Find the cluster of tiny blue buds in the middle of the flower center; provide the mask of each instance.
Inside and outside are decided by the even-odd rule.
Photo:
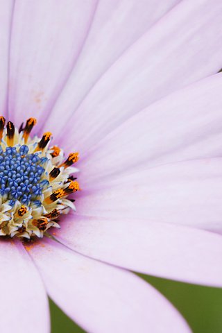
[[[8,198],[9,205],[19,200],[24,205],[41,205],[40,196],[49,185],[44,179],[44,165],[47,157],[39,157],[38,153],[28,154],[28,146],[19,148],[0,148],[0,194]]]

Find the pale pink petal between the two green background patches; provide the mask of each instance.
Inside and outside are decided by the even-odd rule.
[[[44,240],[30,249],[49,295],[87,332],[189,332],[176,309],[133,273]]]

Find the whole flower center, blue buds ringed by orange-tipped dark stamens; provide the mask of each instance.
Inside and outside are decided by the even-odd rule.
[[[78,153],[64,161],[58,146],[49,148],[51,133],[29,136],[36,120],[17,130],[11,121],[5,128],[0,117],[0,236],[43,237],[51,227],[60,228],[58,217],[75,210],[69,194],[79,190],[78,171],[72,165]]]

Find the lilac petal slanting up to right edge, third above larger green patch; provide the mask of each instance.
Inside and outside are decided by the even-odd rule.
[[[221,86],[216,74],[139,112],[80,161],[83,178],[95,184],[128,169],[221,156]]]

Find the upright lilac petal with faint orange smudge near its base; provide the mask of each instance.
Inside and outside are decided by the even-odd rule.
[[[74,66],[96,0],[16,1],[10,51],[10,119],[44,123]],[[58,119],[56,119],[58,121]]]

